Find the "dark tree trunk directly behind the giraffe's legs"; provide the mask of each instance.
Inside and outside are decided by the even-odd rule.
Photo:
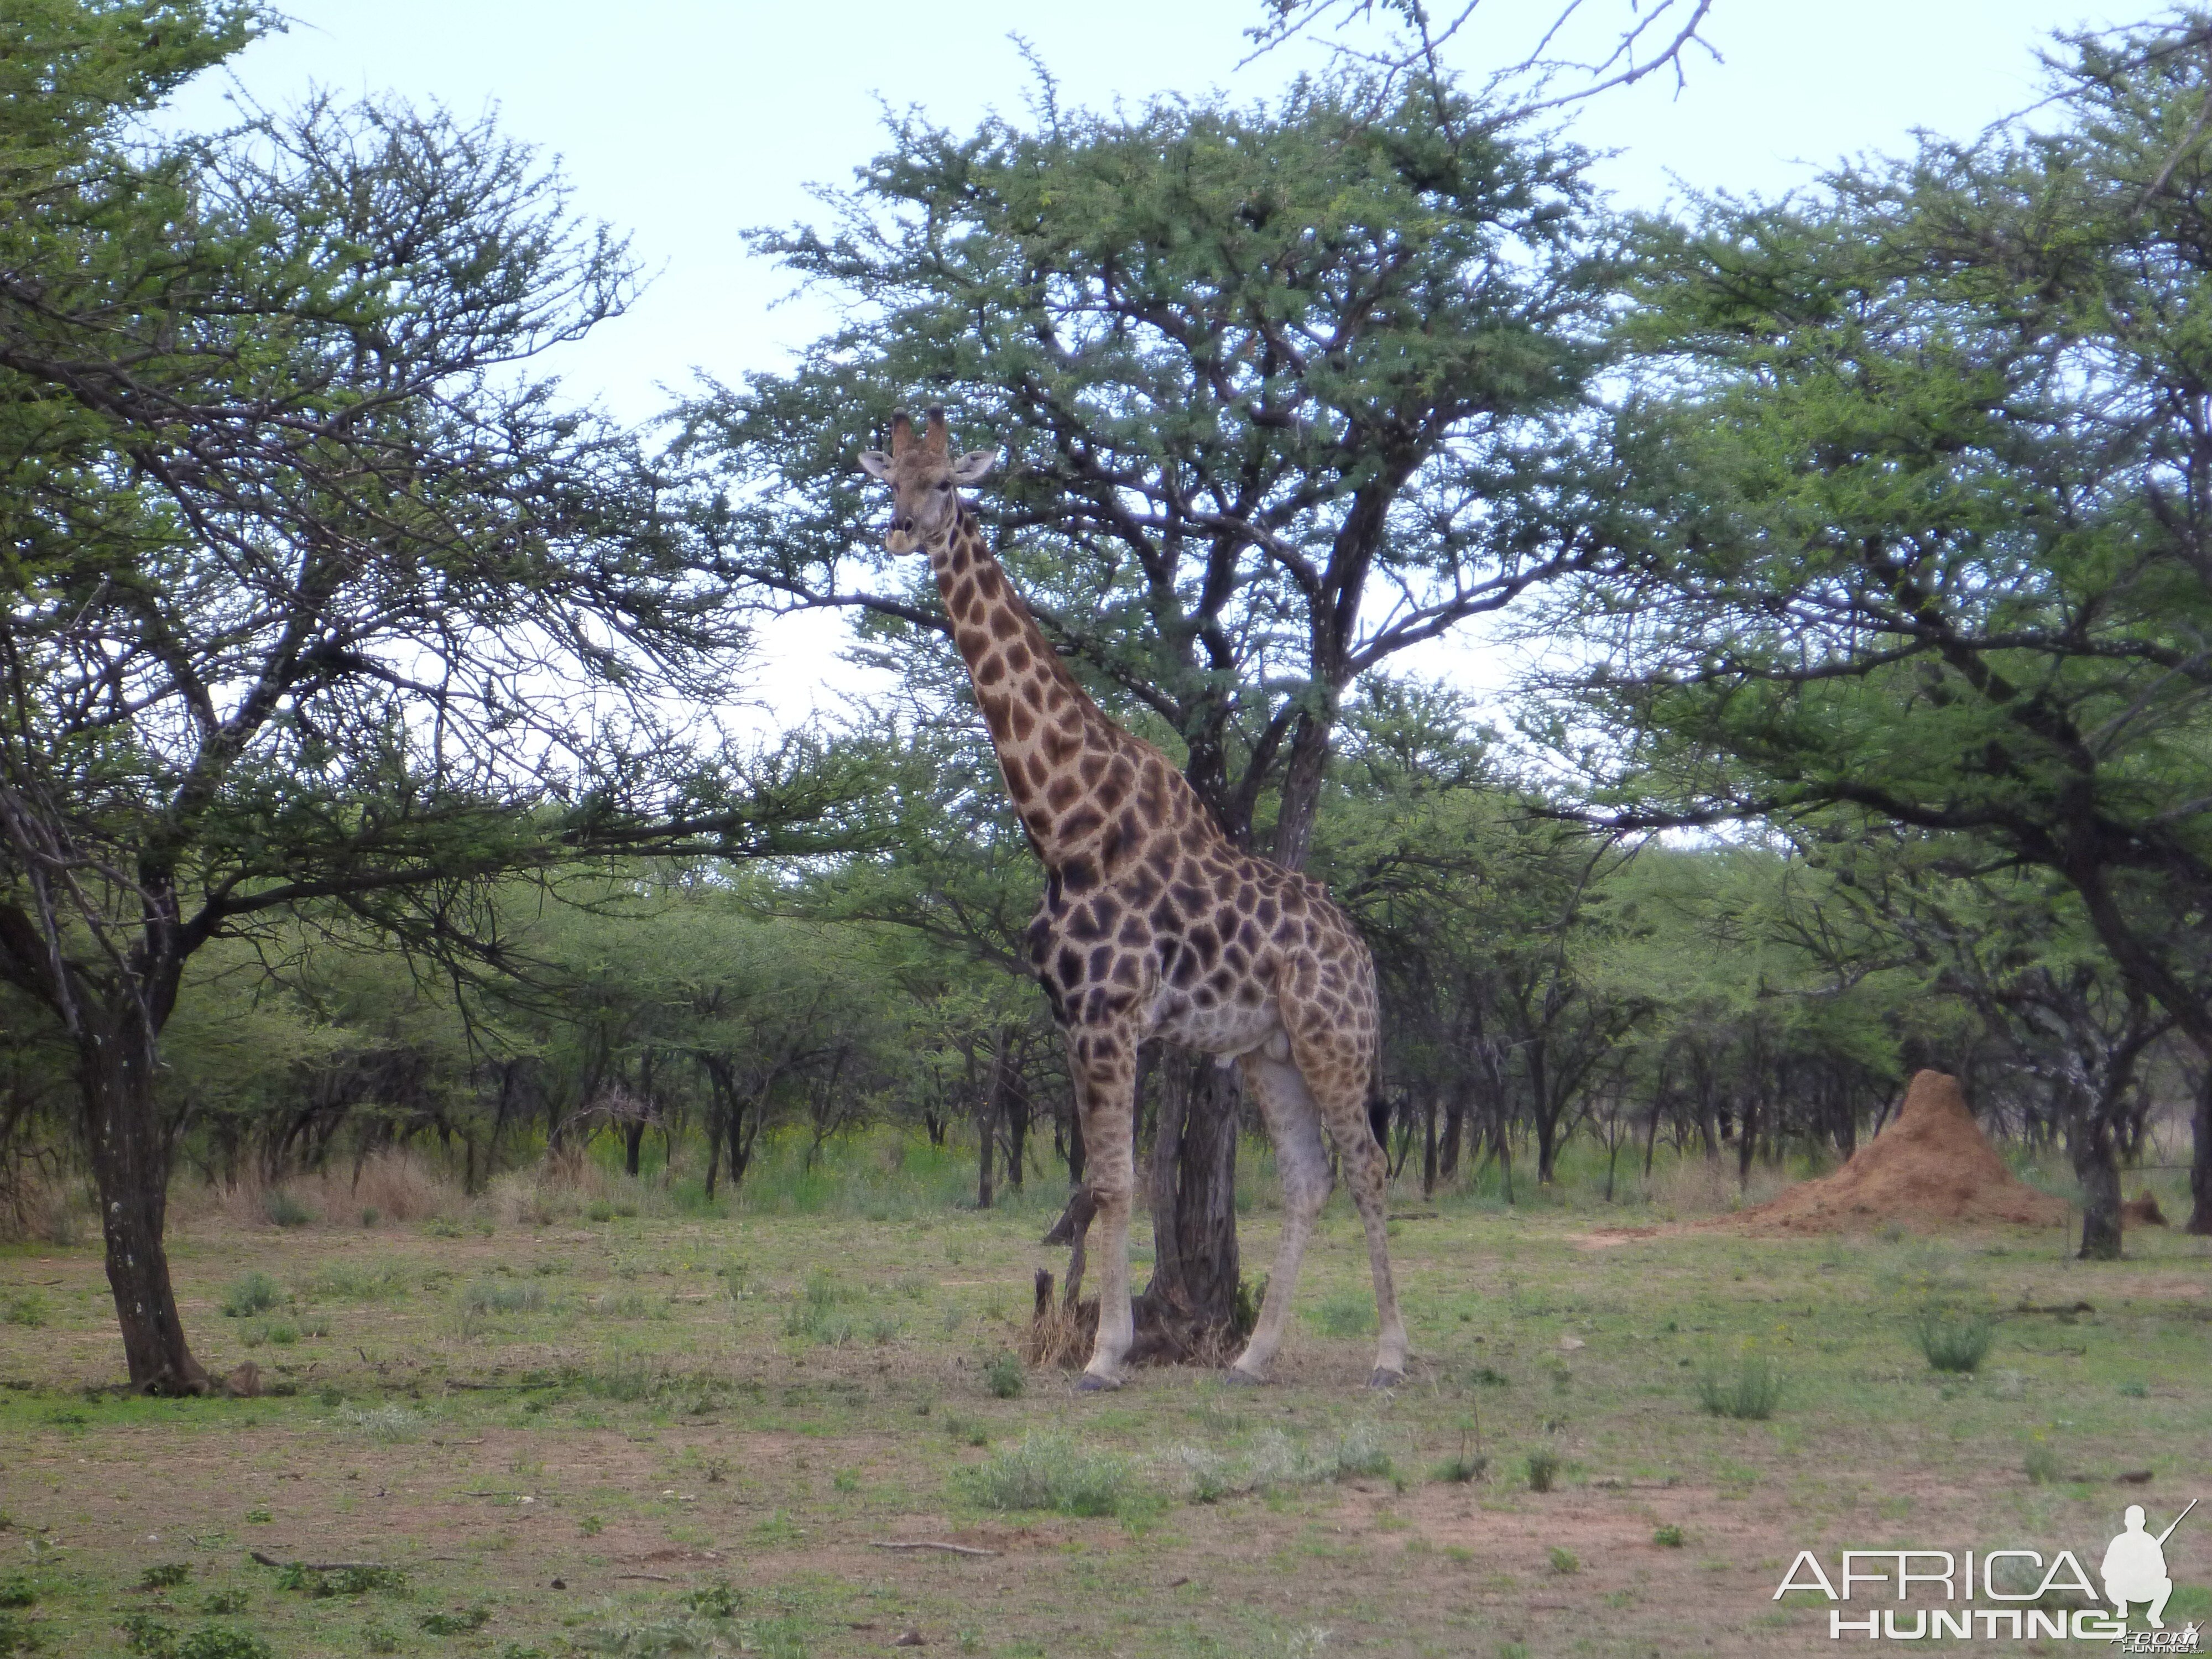
[[[1141,1358],[1223,1358],[1237,1314],[1239,1082],[1208,1055],[1168,1051],[1155,1066],[1152,1283],[1137,1298]]]

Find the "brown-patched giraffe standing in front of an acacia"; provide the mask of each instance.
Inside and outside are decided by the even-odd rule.
[[[1135,1336],[1128,1223],[1137,1044],[1164,1037],[1234,1064],[1283,1170],[1283,1237],[1232,1383],[1263,1383],[1298,1263],[1329,1197],[1323,1130],[1367,1230],[1380,1338],[1371,1387],[1405,1378],[1405,1323],[1385,1239],[1383,1148],[1367,1119],[1380,1018],[1374,958],[1321,883],[1237,849],[1175,763],[1075,684],[984,544],[960,487],[998,449],[953,458],[945,411],[860,469],[891,487],[891,553],[927,553],[991,730],[1006,794],[1044,863],[1029,958],[1068,1044],[1086,1186],[1102,1228],[1099,1327],[1077,1387],[1121,1385]]]

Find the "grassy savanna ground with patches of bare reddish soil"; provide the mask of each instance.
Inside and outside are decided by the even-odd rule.
[[[1064,1265],[1035,1243],[1057,1186],[960,1210],[964,1159],[885,1137],[814,1172],[781,1148],[721,1214],[608,1177],[372,1223],[343,1188],[314,1221],[279,1201],[296,1225],[181,1197],[197,1352],[272,1391],[102,1387],[97,1241],[0,1252],[0,1652],[1825,1652],[1825,1604],[1774,1601],[1798,1548],[2095,1571],[2126,1502],[2157,1531],[2212,1498],[2208,1241],[1593,1237],[1688,1214],[1701,1175],[1635,1206],[1586,1172],[1513,1208],[1400,1192],[1391,1396],[1360,1387],[1340,1194],[1276,1387],[1082,1398],[1009,1358]],[[1250,1148],[1243,1179],[1259,1272]],[[1929,1307],[1993,1318],[1980,1369],[1931,1369]],[[1767,1418],[1703,1405],[1767,1376]],[[989,1553],[878,1548],[918,1540]],[[2212,1517],[2168,1564],[2168,1624],[2203,1621]]]

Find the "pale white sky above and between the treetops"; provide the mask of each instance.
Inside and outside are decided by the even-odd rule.
[[[1484,0],[1453,64],[1480,73],[1526,55],[1559,4]],[[748,257],[739,232],[816,217],[807,186],[849,181],[880,148],[883,104],[958,131],[991,108],[1020,115],[1031,82],[1009,33],[1031,42],[1071,106],[1214,88],[1259,100],[1318,62],[1296,51],[1239,69],[1259,0],[290,0],[288,11],[290,31],[232,64],[254,100],[283,106],[323,86],[462,115],[495,108],[507,133],[562,159],[580,212],[630,234],[650,288],[557,365],[573,394],[626,420],[666,407],[695,372],[776,369],[823,332],[821,305],[779,303],[790,281]],[[1584,11],[1595,31],[1628,0]],[[1615,150],[1597,179],[1630,206],[1659,206],[1677,181],[1776,195],[1843,155],[1905,150],[1916,126],[1971,135],[2037,95],[2035,49],[2053,29],[2141,15],[2095,0],[1719,0],[1705,33],[1721,62],[1697,55],[1679,95],[1666,75],[1606,93],[1573,117],[1573,135]],[[177,115],[221,124],[221,77],[204,77]],[[757,690],[772,708],[796,717],[860,688],[836,661],[841,628],[794,619],[763,641]],[[1478,657],[1438,653],[1418,668],[1498,686],[1498,666]]]

